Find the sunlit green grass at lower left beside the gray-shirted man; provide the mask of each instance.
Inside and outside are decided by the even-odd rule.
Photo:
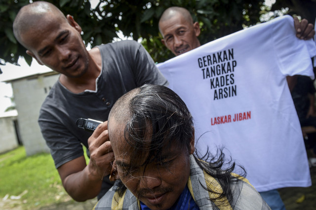
[[[75,203],[64,190],[50,154],[27,157],[23,146],[0,154],[0,200],[14,201],[13,196],[19,195],[17,202],[5,208],[33,210],[67,201]]]

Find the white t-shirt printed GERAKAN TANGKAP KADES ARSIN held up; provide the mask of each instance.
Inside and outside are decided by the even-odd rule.
[[[158,64],[194,117],[197,150],[225,146],[259,192],[310,186],[300,123],[287,75],[314,77],[313,40],[283,16]],[[203,135],[202,135],[203,134]],[[207,146],[206,146],[207,145]]]

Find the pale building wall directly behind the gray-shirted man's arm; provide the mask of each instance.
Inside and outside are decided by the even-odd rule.
[[[40,106],[58,77],[59,74],[40,75],[38,78],[26,78],[11,82],[16,109],[19,113],[18,123],[21,141],[25,146],[27,155],[49,152],[40,133],[38,118]]]

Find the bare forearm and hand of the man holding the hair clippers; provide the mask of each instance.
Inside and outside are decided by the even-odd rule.
[[[107,121],[100,124],[88,140],[90,161],[84,156],[69,161],[58,168],[58,173],[68,194],[76,201],[96,197],[104,176],[109,175],[114,160],[108,135]]]

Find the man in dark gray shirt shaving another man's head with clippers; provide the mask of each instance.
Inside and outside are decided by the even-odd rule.
[[[78,23],[48,2],[22,7],[13,32],[27,54],[61,73],[40,109],[39,124],[66,191],[77,201],[100,198],[111,186],[105,180],[114,158],[107,122],[90,136],[77,119],[106,121],[121,95],[145,83],[166,85],[166,79],[136,41],[87,51]],[[88,165],[81,144],[89,150]]]

